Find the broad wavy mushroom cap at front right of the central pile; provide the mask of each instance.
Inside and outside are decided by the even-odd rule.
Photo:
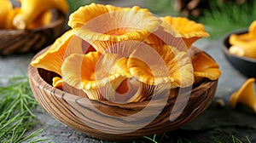
[[[193,67],[189,56],[167,45],[151,45],[136,49],[127,66],[137,80],[157,85],[171,83],[172,88],[188,87],[194,83]]]

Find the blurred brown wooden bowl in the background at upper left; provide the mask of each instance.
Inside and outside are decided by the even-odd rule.
[[[0,54],[38,52],[61,36],[65,21],[66,15],[53,10],[53,20],[47,26],[32,30],[0,30]]]

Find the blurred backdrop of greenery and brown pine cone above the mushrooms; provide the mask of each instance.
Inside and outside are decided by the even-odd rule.
[[[67,0],[70,13],[90,3],[131,7],[138,5],[159,16],[183,16],[201,22],[212,38],[223,37],[236,29],[245,29],[256,20],[253,0]]]

